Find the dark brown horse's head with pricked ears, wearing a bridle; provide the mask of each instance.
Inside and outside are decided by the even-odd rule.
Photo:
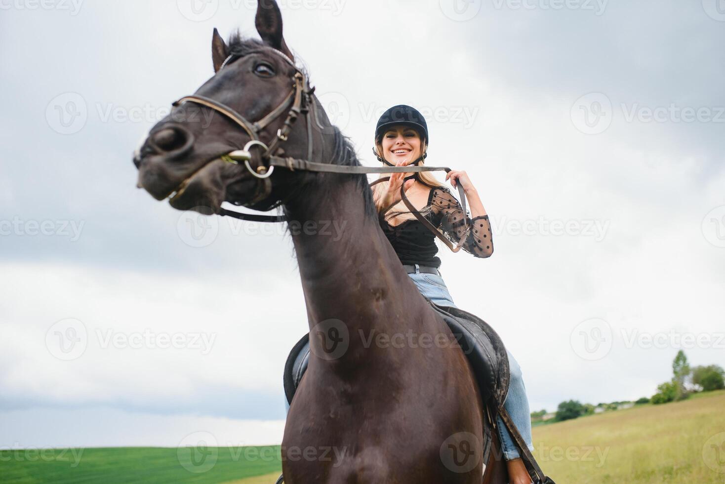
[[[215,75],[177,101],[136,151],[138,186],[155,199],[207,214],[220,213],[223,201],[269,210],[289,196],[293,180],[279,170],[271,183],[265,160],[312,157],[323,135],[312,125],[329,121],[284,41],[276,1],[258,1],[255,25],[261,41],[237,34],[225,43],[214,29]],[[294,184],[302,184],[299,176]]]

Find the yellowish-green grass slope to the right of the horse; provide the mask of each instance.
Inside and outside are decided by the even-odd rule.
[[[725,483],[725,391],[534,428],[557,483]],[[709,466],[708,466],[709,464]]]

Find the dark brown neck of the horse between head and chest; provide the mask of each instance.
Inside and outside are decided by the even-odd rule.
[[[310,330],[326,320],[341,320],[354,346],[373,331],[396,330],[392,326],[402,325],[402,314],[410,316],[406,320],[425,319],[410,314],[423,312],[425,303],[378,220],[365,212],[354,180],[329,175],[328,183],[306,190],[305,199],[288,204],[286,212]]]

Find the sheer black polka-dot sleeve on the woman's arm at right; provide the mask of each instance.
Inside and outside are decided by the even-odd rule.
[[[458,200],[444,187],[434,188],[431,193],[431,210],[440,220],[439,228],[453,243],[459,243],[465,237],[463,250],[476,257],[490,257],[494,251],[492,241],[491,222],[489,216],[484,215],[471,220],[463,212]],[[465,225],[468,222],[468,234]]]

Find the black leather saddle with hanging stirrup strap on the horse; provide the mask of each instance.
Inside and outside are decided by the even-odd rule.
[[[488,323],[475,314],[456,307],[437,306],[428,299],[426,301],[444,319],[463,353],[468,358],[468,362],[471,363],[473,375],[481,392],[481,399],[491,412],[489,413],[489,420],[495,422],[497,415],[501,417],[501,420],[513,436],[513,440],[534,483],[555,484],[550,477],[544,475],[504,408],[504,402],[508,395],[510,372],[506,347],[500,336]],[[304,335],[290,351],[284,366],[284,393],[287,403],[290,405],[310,362],[309,343],[310,335]],[[486,429],[486,433],[489,432],[490,430]],[[490,435],[487,436],[490,437]],[[486,441],[489,443],[484,448],[484,462],[488,462],[489,453],[492,450],[490,446],[491,439],[487,438]]]

